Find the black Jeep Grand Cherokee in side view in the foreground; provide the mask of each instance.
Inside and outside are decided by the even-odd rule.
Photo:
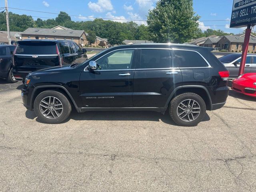
[[[78,112],[152,110],[195,126],[224,106],[229,73],[210,52],[184,44],[133,44],[104,50],[82,64],[28,74],[22,99],[45,123]]]

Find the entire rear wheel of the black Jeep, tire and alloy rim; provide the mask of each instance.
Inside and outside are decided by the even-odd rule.
[[[184,93],[172,99],[169,113],[180,126],[196,126],[206,115],[206,104],[199,95]]]

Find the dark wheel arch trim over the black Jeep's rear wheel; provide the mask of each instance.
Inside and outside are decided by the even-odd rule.
[[[177,95],[183,94],[183,93],[187,93],[187,92],[198,94],[204,100],[204,102],[206,104],[206,109],[212,110],[212,98],[210,96],[210,93],[205,86],[201,86],[201,85],[188,85],[188,86],[176,87],[170,94],[170,96],[166,102],[165,108],[168,107],[170,101],[174,97],[176,97]]]

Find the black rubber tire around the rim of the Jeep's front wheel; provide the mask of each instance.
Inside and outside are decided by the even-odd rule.
[[[46,116],[44,116],[42,114],[42,112],[41,112],[42,106],[40,106],[40,102],[44,98],[47,98],[47,97],[55,97],[56,100],[58,99],[60,101],[60,103],[62,104],[62,108],[63,108],[60,116],[56,115],[56,113],[53,112],[53,109],[52,109],[52,112],[55,114],[56,118],[51,119],[51,118],[49,118],[49,116],[47,118]],[[50,110],[51,109],[49,109],[48,112]],[[66,120],[68,118],[68,116],[71,113],[71,110],[72,110],[72,108],[71,108],[68,98],[64,94],[62,94],[58,91],[48,90],[48,91],[41,92],[40,94],[38,94],[38,96],[36,97],[36,99],[34,101],[34,111],[36,112],[36,115],[38,116],[39,120],[44,123],[48,123],[48,124],[58,124],[58,123],[63,122],[64,120]]]

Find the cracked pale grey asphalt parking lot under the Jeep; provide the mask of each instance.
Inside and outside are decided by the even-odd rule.
[[[0,191],[256,191],[256,98],[230,91],[196,127],[156,112],[38,122],[0,80]]]

